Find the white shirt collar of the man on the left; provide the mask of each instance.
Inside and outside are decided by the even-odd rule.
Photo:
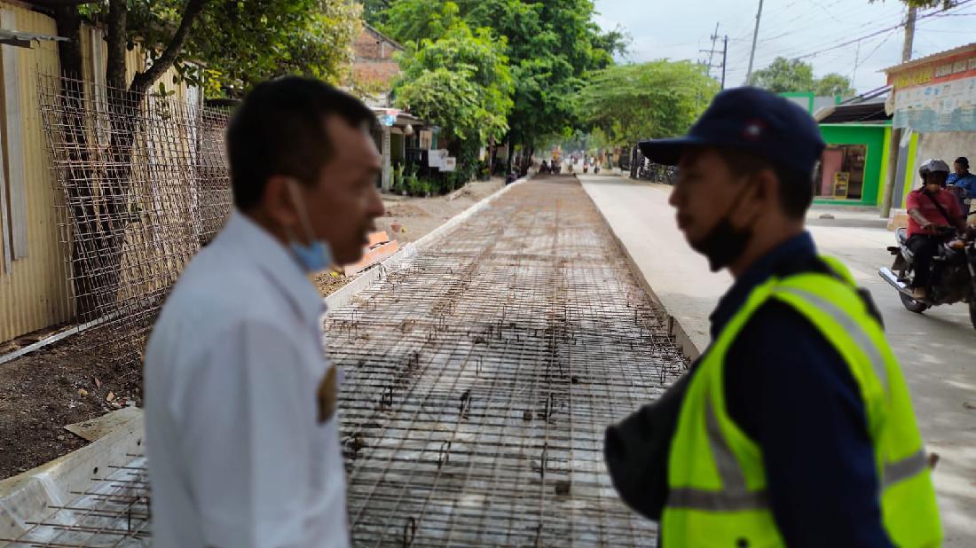
[[[251,217],[234,210],[221,238],[235,252],[257,265],[288,298],[306,321],[317,323],[325,313],[325,300],[295,257]],[[215,242],[216,243],[216,242]]]

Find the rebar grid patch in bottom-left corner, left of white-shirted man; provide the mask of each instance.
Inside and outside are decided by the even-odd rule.
[[[103,548],[148,546],[149,487],[145,458],[131,455],[127,466],[95,469],[91,485],[63,505],[45,505],[43,517],[26,522],[17,538],[0,538],[11,547]]]

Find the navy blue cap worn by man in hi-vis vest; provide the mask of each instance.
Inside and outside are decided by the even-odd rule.
[[[812,175],[826,145],[817,122],[799,105],[747,87],[715,96],[685,137],[644,140],[638,146],[652,162],[668,166],[677,165],[686,146],[722,146]]]

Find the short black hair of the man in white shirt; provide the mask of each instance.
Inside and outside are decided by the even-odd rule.
[[[362,101],[319,80],[286,76],[255,86],[227,128],[234,205],[257,205],[270,176],[314,183],[332,158],[325,121],[333,115],[353,126],[376,124]]]

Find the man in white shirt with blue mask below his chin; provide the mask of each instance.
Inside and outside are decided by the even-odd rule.
[[[308,274],[359,259],[382,169],[358,99],[257,86],[227,131],[235,211],[183,271],[145,356],[156,548],[345,547],[346,481]]]

